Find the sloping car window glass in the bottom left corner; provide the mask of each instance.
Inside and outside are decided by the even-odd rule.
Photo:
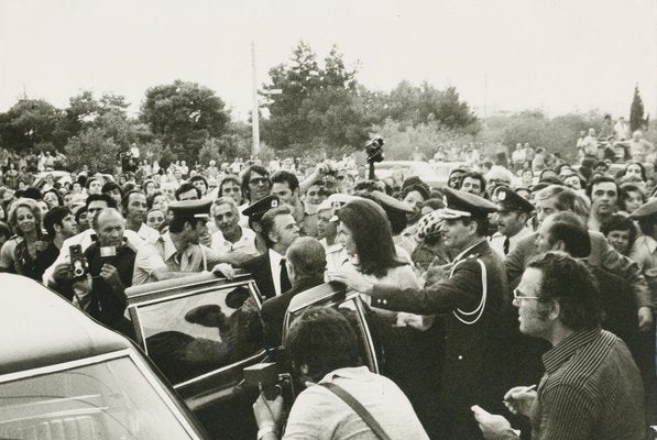
[[[0,383],[0,438],[190,439],[129,356]]]

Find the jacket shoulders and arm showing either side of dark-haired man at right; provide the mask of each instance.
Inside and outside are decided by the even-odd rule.
[[[506,276],[514,285],[523,275],[532,257],[536,255],[536,235],[533,233],[521,240],[516,248],[506,255]],[[632,285],[635,307],[650,307],[650,290],[638,263],[629,260],[609,245],[606,238],[598,231],[589,231],[591,238],[591,254],[587,257],[590,266],[602,267],[620,276]]]

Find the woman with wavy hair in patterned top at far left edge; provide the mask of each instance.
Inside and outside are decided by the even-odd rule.
[[[9,211],[9,227],[15,233],[0,250],[0,272],[11,272],[37,279],[34,272],[36,255],[45,250],[42,215],[36,201],[19,199]]]

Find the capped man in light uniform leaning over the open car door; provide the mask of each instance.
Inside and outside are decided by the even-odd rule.
[[[207,232],[211,200],[173,201],[168,232],[136,253],[132,285],[186,276],[190,273],[217,270],[231,276],[228,264],[239,265],[250,256],[237,253],[219,254],[199,243]],[[221,264],[228,263],[228,264]],[[220,265],[221,264],[221,265]],[[218,266],[219,265],[219,266]]]

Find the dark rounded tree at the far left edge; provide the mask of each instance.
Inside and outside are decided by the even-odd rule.
[[[21,99],[7,113],[0,114],[2,145],[14,151],[48,144],[62,147],[66,134],[57,127],[63,118],[61,110],[43,99]]]

